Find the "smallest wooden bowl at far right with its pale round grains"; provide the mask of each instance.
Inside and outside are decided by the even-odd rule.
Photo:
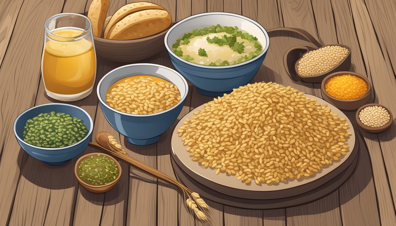
[[[356,122],[366,132],[381,133],[392,125],[392,112],[382,104],[366,104],[356,112]]]

